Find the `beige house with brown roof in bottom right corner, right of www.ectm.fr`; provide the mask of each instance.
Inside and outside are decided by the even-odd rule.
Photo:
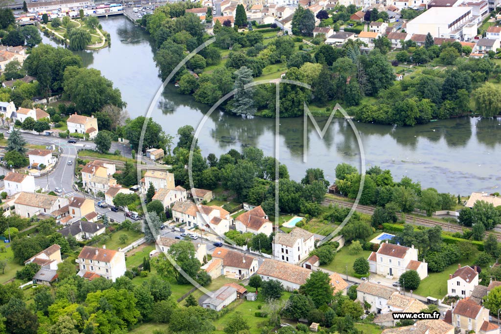
[[[469,299],[458,300],[452,311],[446,312],[444,320],[461,334],[471,331],[480,334],[499,333],[499,327],[489,322],[489,310]]]

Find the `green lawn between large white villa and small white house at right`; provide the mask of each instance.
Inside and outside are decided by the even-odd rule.
[[[473,265],[477,256],[477,252],[470,256],[469,260],[461,259],[459,261],[461,266],[463,265]],[[428,277],[421,281],[419,287],[414,290],[414,293],[419,294],[423,297],[432,296],[435,298],[442,298],[447,294],[447,280],[449,279],[449,274],[453,274],[457,270],[457,263],[453,263],[445,268],[442,272],[431,272],[428,270]]]

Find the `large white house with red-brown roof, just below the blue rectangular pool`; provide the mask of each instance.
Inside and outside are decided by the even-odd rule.
[[[405,247],[383,242],[377,252],[368,258],[370,272],[387,277],[398,278],[407,270],[416,270],[421,279],[428,276],[428,263],[417,260],[417,249],[414,245]]]

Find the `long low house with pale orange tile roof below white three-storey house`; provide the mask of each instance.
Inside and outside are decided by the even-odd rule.
[[[299,289],[311,273],[309,269],[273,259],[265,259],[257,271],[263,280],[278,280],[289,291]]]

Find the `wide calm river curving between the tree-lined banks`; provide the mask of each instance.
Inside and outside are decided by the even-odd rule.
[[[131,117],[145,115],[161,85],[153,62],[149,36],[124,16],[102,18],[103,29],[111,35],[111,47],[82,51],[85,66],[93,67],[122,92]],[[44,43],[54,42],[44,37]],[[176,93],[169,85],[150,117],[164,131],[175,135],[186,124],[195,129],[209,107]],[[326,118],[318,118],[322,129]],[[472,191],[499,191],[501,185],[501,120],[459,118],[431,122],[413,128],[355,122],[365,153],[366,168],[379,165],[390,169],[394,179],[408,176],[423,187],[440,192],[467,195]],[[289,168],[291,178],[300,180],[307,168],[322,168],[333,181],[334,168],[346,162],[360,169],[361,154],[349,123],[334,119],[323,139],[308,125],[306,163],[303,162],[303,118],[280,120],[279,159]],[[202,154],[219,156],[231,148],[246,145],[275,152],[275,120],[252,120],[214,111],[201,127],[198,143]],[[497,190],[496,190],[497,189]]]

